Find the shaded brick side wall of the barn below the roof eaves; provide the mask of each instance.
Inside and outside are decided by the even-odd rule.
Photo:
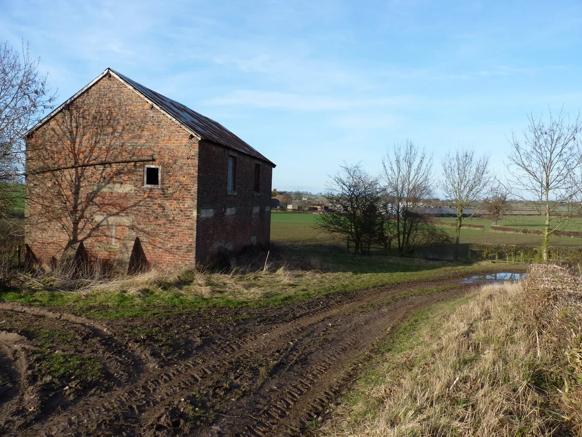
[[[221,252],[238,252],[256,244],[267,248],[271,231],[272,166],[236,150],[201,141],[198,151],[198,211],[196,250],[199,262],[210,262]],[[236,195],[227,191],[228,157],[236,161]],[[261,164],[260,191],[254,192],[255,163]],[[235,213],[226,214],[228,208]],[[253,208],[258,207],[258,212]],[[203,217],[202,209],[214,210]]]

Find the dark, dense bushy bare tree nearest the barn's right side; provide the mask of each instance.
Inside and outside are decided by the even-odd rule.
[[[336,211],[318,216],[316,226],[325,232],[342,235],[348,250],[353,244],[356,255],[369,251],[377,230],[378,203],[382,198],[378,178],[364,171],[360,164],[341,165],[325,197],[335,205]]]

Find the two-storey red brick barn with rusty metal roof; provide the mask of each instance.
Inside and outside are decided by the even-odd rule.
[[[269,245],[275,167],[214,120],[112,69],[26,135],[30,259],[136,269]]]

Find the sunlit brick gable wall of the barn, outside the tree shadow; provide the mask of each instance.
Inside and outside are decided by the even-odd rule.
[[[111,170],[111,177],[107,181],[110,184],[132,186],[132,192],[101,193],[97,202],[100,207],[88,209],[87,220],[94,221],[95,214],[113,214],[127,218],[131,224],[116,224],[114,236],[111,225],[92,225],[92,229],[86,229],[81,233],[80,238],[85,239],[88,231],[92,232],[93,235],[84,241],[88,253],[94,258],[127,259],[135,237],[139,237],[145,256],[151,265],[193,263],[196,253],[194,211],[196,211],[197,202],[198,140],[190,139],[187,131],[157,109],[150,108],[147,101],[115,77],[103,77],[77,98],[72,103],[72,108],[88,104],[100,105],[105,102],[108,102],[110,107],[123,105],[126,108],[125,111],[130,111],[134,117],[133,120],[136,121],[123,126],[124,133],[120,135],[120,147],[123,147],[124,151],[122,154],[127,157],[150,157],[153,154],[156,160],[154,163],[107,167]],[[122,111],[119,110],[119,112]],[[54,156],[58,157],[59,166],[72,163],[70,154],[64,152],[59,154],[61,149],[59,142],[62,142],[62,138],[54,132],[55,126],[58,125],[59,120],[63,121],[63,117],[65,117],[63,112],[59,113],[27,140],[28,171],[38,168],[39,158],[43,155],[35,150],[37,146],[42,145],[48,145],[55,151]],[[133,132],[136,129],[140,132]],[[103,156],[111,156],[107,153],[107,147],[113,147],[113,143],[104,142],[100,149]],[[97,154],[94,160],[102,159]],[[144,164],[161,165],[160,188],[144,188]],[[95,172],[98,168],[91,170]],[[67,227],[70,228],[70,221],[65,218],[63,202],[55,198],[51,211],[61,208],[62,220],[47,221],[45,219],[45,223],[41,223],[43,217],[47,217],[46,210],[51,202],[51,189],[43,189],[43,186],[50,185],[50,177],[48,174],[33,175],[28,179],[27,197],[31,200],[27,202],[29,220],[26,243],[37,258],[48,263],[53,256],[56,259],[61,258],[69,239]],[[94,189],[94,184],[94,179],[87,177],[81,193]],[[41,206],[35,202],[35,198],[42,198],[44,205]],[[107,202],[107,199],[111,201]]]

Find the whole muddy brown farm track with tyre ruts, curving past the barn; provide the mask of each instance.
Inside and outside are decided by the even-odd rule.
[[[0,435],[301,434],[378,340],[475,287],[459,280],[105,322],[0,304]]]

